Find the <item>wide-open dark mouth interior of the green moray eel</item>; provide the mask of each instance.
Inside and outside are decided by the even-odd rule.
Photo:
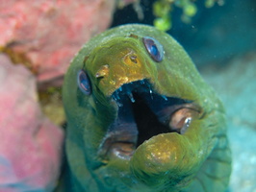
[[[147,80],[122,84],[112,99],[118,111],[100,147],[105,159],[129,159],[145,140],[161,133],[183,134],[200,112],[192,101],[157,93]]]

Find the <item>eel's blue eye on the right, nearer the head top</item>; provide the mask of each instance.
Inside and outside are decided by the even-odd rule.
[[[142,40],[150,57],[157,62],[162,61],[164,58],[164,49],[162,44],[150,36],[144,36]]]

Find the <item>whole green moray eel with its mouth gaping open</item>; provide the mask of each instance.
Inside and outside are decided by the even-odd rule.
[[[133,24],[91,38],[71,61],[63,99],[71,191],[226,190],[224,109],[166,33]]]

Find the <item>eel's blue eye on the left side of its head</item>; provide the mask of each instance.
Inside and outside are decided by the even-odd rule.
[[[77,73],[77,84],[84,94],[90,95],[90,79],[88,78],[87,73],[82,69]]]

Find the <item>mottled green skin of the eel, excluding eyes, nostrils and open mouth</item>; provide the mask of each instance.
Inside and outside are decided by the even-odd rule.
[[[154,37],[164,46],[163,61],[150,58],[142,36]],[[138,64],[124,61],[131,50]],[[110,65],[110,71],[104,78],[95,78],[104,64]],[[82,68],[90,77],[90,96],[76,83]],[[121,84],[145,78],[160,94],[192,100],[202,108],[200,117],[192,120],[185,134],[169,132],[145,141],[131,159],[102,159],[100,144],[117,111],[111,94]],[[224,109],[182,46],[166,33],[144,25],[125,25],[91,38],[71,62],[63,98],[72,191],[225,191],[231,157]]]

